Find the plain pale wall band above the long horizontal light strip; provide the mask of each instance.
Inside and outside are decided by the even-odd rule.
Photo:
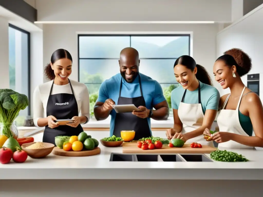
[[[210,20],[231,22],[230,0],[36,0],[38,21]]]

